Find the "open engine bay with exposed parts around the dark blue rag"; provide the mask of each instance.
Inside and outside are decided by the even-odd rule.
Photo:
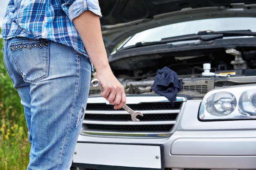
[[[236,48],[202,49],[193,46],[185,51],[184,48],[166,49],[166,44],[161,46],[146,46],[139,52],[137,48],[126,49],[110,56],[112,71],[124,84],[127,94],[154,93],[151,86],[155,75],[164,66],[182,79],[182,90],[177,95],[188,98],[202,98],[217,86],[256,82],[255,47],[237,45]],[[210,64],[207,71],[204,64]]]

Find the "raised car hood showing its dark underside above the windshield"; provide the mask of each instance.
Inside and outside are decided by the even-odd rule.
[[[254,17],[255,0],[99,0],[106,50],[135,33],[171,23],[221,17]]]

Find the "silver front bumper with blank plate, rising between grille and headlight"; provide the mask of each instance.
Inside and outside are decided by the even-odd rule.
[[[197,118],[200,100],[187,101],[168,138],[80,135],[73,166],[98,170],[256,170],[256,121]]]

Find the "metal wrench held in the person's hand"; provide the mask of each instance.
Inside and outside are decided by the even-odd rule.
[[[101,91],[104,91],[98,79],[92,79],[91,85],[93,87],[97,87]],[[136,118],[137,115],[143,116],[143,114],[140,111],[134,111],[131,108],[129,108],[126,104],[124,104],[123,109],[130,113],[132,121],[139,121],[139,119]]]

